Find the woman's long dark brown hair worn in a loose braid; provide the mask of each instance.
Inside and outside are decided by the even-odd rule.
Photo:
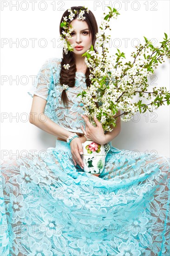
[[[94,14],[89,10],[89,13],[86,12],[86,9],[83,8],[83,6],[73,6],[71,7],[72,11],[75,9],[77,11],[79,11],[80,9],[82,10],[85,10],[85,13],[83,14],[83,16],[85,17],[85,21],[87,22],[88,24],[88,27],[89,27],[89,33],[91,34],[92,33],[92,45],[93,45],[93,48],[94,48],[94,44],[95,44],[95,41],[96,41],[96,34],[98,33],[98,24],[97,24],[97,21],[94,17]],[[63,16],[61,18],[61,22],[63,22],[63,18],[65,16],[69,16],[69,12],[68,12],[68,9],[65,11],[65,13],[63,13]],[[75,16],[73,17],[73,20],[75,20],[76,18],[78,17],[78,13],[75,14]],[[71,20],[72,21],[72,20]],[[67,21],[69,22],[69,24],[71,23],[71,21]],[[69,25],[68,25],[69,26]],[[60,35],[62,34],[62,32],[64,31],[64,28],[63,27],[60,27],[59,26],[59,33]],[[89,35],[90,35],[89,34]],[[94,51],[97,52],[97,50],[94,48]],[[65,68],[63,67],[63,65],[66,65],[66,64],[69,64],[70,67],[69,69],[67,70],[67,72],[65,72]],[[74,60],[74,55],[72,54],[72,52],[68,51],[68,54],[65,54],[64,52],[64,48],[63,48],[63,58],[62,58],[62,61],[61,61],[61,71],[60,71],[60,79],[59,79],[59,82],[61,85],[63,84],[67,84],[69,87],[74,87],[75,86],[75,74],[76,74],[76,64],[75,64],[75,60]],[[86,69],[86,72],[85,72],[85,77],[86,77],[86,85],[87,87],[90,87],[90,79],[89,79],[89,74],[90,74],[90,70],[89,70],[89,67],[87,67]],[[61,94],[61,100],[63,101],[65,107],[68,108],[68,98],[67,98],[67,94],[66,94],[66,91],[63,90],[62,94]]]

